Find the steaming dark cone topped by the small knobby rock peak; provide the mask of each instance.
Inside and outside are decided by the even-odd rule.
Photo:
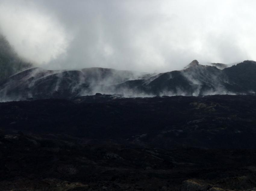
[[[147,86],[159,95],[198,96],[226,94],[223,92],[226,76],[214,66],[204,66],[192,61],[184,70],[164,73]]]

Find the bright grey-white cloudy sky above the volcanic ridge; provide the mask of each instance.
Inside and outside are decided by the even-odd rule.
[[[49,69],[256,60],[254,0],[0,0],[0,32]]]

